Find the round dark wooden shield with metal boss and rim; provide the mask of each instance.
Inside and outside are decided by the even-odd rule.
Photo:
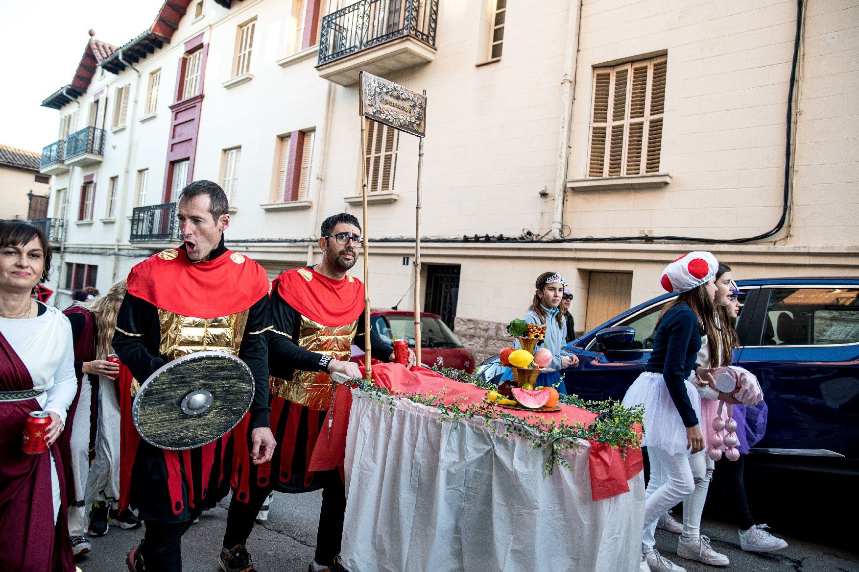
[[[253,401],[253,374],[222,352],[198,352],[158,368],[137,391],[137,432],[160,449],[182,450],[221,438]]]

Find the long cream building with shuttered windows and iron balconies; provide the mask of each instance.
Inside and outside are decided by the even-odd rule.
[[[740,278],[856,275],[859,4],[805,4],[172,0],[43,103],[58,304],[178,244],[198,179],[231,248],[272,277],[313,263],[323,218],[361,218],[363,169],[372,305],[411,309],[418,141],[369,123],[362,147],[361,70],[426,89],[421,304],[478,357],[546,270],[580,331],[691,249]]]

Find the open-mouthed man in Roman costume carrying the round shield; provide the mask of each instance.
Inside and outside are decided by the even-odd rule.
[[[194,181],[179,197],[183,244],[131,268],[119,308],[113,348],[138,382],[171,360],[201,351],[238,355],[253,373],[247,415],[254,463],[271,458],[268,351],[271,328],[265,270],[223,245],[227,196],[211,181]],[[216,384],[217,380],[211,380]],[[128,554],[132,572],[179,572],[181,538],[206,508],[229,490],[233,440],[166,451],[140,440],[131,469],[131,506],[146,526]]]

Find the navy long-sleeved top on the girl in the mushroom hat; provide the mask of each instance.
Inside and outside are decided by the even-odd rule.
[[[661,373],[668,386],[674,407],[685,427],[698,425],[698,416],[686,393],[686,379],[695,369],[698,350],[701,349],[701,332],[698,330],[698,315],[683,302],[674,305],[662,317],[653,335],[653,351],[647,372]]]

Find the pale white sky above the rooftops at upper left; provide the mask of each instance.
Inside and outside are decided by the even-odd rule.
[[[40,103],[71,83],[88,32],[122,46],[155,21],[163,0],[0,0],[0,144],[42,151],[59,112]]]

